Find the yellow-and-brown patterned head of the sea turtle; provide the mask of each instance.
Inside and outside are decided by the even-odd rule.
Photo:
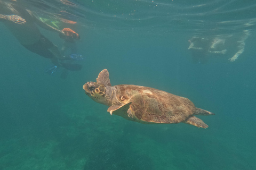
[[[107,88],[103,84],[89,81],[84,84],[83,89],[85,90],[85,94],[91,99],[97,103],[106,105],[105,96],[107,93]]]

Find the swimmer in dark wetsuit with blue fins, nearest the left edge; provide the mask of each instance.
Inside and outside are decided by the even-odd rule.
[[[52,67],[52,73],[57,69],[57,66],[62,66],[69,70],[81,70],[81,65],[59,63],[59,60],[65,60],[67,58],[60,54],[57,46],[41,34],[36,24],[46,30],[61,34],[64,34],[64,32],[37,19],[31,11],[26,10],[26,8],[22,7],[20,4],[16,4],[17,2],[13,3],[15,4],[0,0],[0,21],[3,21],[5,26],[12,32],[13,36],[17,38],[23,47],[45,58],[50,58],[55,65]]]

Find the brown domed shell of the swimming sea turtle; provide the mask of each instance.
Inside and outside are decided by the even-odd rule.
[[[162,90],[127,84],[114,87],[121,103],[131,103],[127,111],[129,117],[140,123],[180,123],[196,110],[188,98]]]

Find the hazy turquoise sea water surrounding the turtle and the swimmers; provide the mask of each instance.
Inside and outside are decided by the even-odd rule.
[[[116,1],[97,1],[94,6],[73,1],[79,4],[76,27],[82,37],[77,48],[85,60],[82,71],[69,72],[65,80],[60,78],[61,70],[46,74],[51,62],[23,48],[0,23],[0,169],[255,169],[256,34],[250,15],[254,3],[206,1],[207,10],[227,12],[214,18],[203,7],[197,8],[198,15],[190,8],[199,1],[174,1],[174,6],[169,1],[138,1],[138,16],[125,20],[112,14],[131,11],[135,1],[110,8],[106,2]],[[149,11],[147,4],[155,3],[165,8]],[[177,14],[170,22],[172,17],[164,14],[168,6],[172,16]],[[233,11],[239,7],[247,12],[240,10],[234,19]],[[69,12],[75,11],[70,7]],[[201,19],[205,27],[199,24]],[[193,64],[188,40],[209,28],[206,35],[213,35],[217,27],[212,25],[230,20],[216,32],[239,35],[247,21],[252,23],[244,53],[235,62],[228,61],[227,54]],[[41,32],[61,46],[56,33]],[[209,128],[145,125],[111,116],[108,106],[95,103],[82,89],[103,69],[108,69],[112,85],[153,87],[189,98],[196,107],[215,113],[198,116]]]

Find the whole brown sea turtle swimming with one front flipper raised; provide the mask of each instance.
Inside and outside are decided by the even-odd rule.
[[[111,86],[107,69],[99,73],[97,82],[86,82],[85,94],[97,103],[110,106],[112,115],[144,123],[187,123],[198,128],[208,128],[194,115],[214,115],[195,105],[185,97],[176,96],[154,88],[135,85]]]

